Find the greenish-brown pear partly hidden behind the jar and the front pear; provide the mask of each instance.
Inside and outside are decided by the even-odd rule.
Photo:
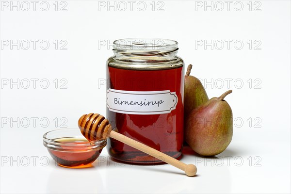
[[[184,118],[195,108],[209,100],[200,80],[190,76],[192,65],[188,65],[184,82]]]

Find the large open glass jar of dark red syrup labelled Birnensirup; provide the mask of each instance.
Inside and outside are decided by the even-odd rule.
[[[114,130],[180,159],[183,145],[184,62],[178,42],[132,38],[113,42],[107,60],[107,119]],[[108,152],[120,162],[162,162],[110,138]]]

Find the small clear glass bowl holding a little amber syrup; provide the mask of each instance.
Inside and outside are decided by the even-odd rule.
[[[106,140],[89,142],[80,129],[57,129],[43,135],[44,146],[60,166],[68,168],[89,167],[106,146]]]

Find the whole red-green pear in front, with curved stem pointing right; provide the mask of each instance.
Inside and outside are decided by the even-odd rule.
[[[212,97],[205,104],[194,109],[185,124],[185,140],[202,156],[215,156],[223,152],[232,139],[232,111],[224,98]]]

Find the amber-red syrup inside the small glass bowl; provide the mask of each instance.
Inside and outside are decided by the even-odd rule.
[[[54,139],[54,141],[58,142],[66,142],[66,143],[87,143],[88,140],[85,138],[59,138]],[[57,162],[60,166],[63,167],[70,167],[70,168],[83,168],[89,167],[89,165],[94,162],[98,156],[100,155],[101,149],[94,149],[94,150],[86,150],[84,146],[74,146],[72,147],[64,147],[65,149],[70,149],[69,151],[59,151],[49,149],[49,154],[53,158],[55,162]],[[78,149],[78,151],[73,151],[74,149]],[[83,149],[83,150],[82,150]]]

